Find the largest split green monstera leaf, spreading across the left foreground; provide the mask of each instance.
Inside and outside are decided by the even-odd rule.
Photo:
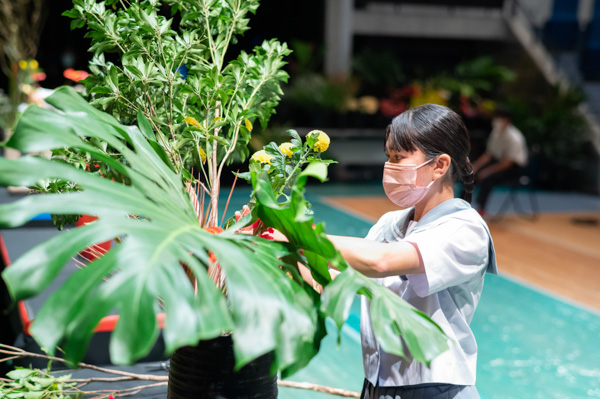
[[[40,345],[52,353],[60,344],[66,357],[76,362],[98,321],[116,309],[120,318],[111,336],[111,357],[116,363],[131,363],[154,344],[156,313],[164,311],[169,352],[232,332],[238,367],[271,351],[274,370],[307,364],[316,352],[311,348],[321,322],[313,297],[278,266],[290,254],[289,246],[205,232],[181,177],[149,144],[151,139],[137,127],[119,125],[97,112],[72,90],[62,89],[56,96],[50,101],[58,111],[30,107],[8,144],[24,151],[70,146],[99,158],[103,154],[98,148],[87,144],[88,137],[96,137],[121,153],[123,163],[105,160],[119,167],[130,185],[42,158],[0,159],[2,185],[58,178],[81,189],[0,205],[1,226],[22,225],[41,212],[99,217],[16,260],[2,275],[14,300],[40,293],[81,249],[121,238],[119,245],[72,274],[47,300],[32,326]],[[207,274],[208,250],[225,270],[227,297]],[[196,276],[197,294],[181,263]]]

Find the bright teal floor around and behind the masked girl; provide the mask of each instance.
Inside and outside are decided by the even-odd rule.
[[[246,201],[237,189],[230,211]],[[360,196],[381,193],[378,185],[309,187],[316,219],[332,234],[364,236],[370,222],[319,201],[321,195]],[[500,192],[494,201],[500,202]],[[597,197],[539,193],[543,211],[600,210]],[[568,207],[568,209],[563,209]],[[573,209],[576,207],[577,209]],[[600,265],[599,265],[600,266]],[[500,272],[502,265],[499,265]],[[342,330],[341,345],[332,326],[322,350],[304,370],[290,378],[360,391],[363,381],[358,331],[359,306]],[[600,398],[600,315],[565,303],[510,278],[487,276],[472,322],[479,346],[477,389],[484,399]],[[331,398],[282,388],[282,399]]]

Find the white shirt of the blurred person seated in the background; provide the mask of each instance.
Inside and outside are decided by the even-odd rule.
[[[513,125],[508,125],[504,131],[494,128],[488,139],[486,151],[498,161],[508,159],[522,167],[527,165],[525,137]]]

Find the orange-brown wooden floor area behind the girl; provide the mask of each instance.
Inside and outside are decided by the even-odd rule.
[[[386,197],[325,199],[375,221],[397,207]],[[488,221],[501,274],[600,310],[600,213],[542,214]]]

